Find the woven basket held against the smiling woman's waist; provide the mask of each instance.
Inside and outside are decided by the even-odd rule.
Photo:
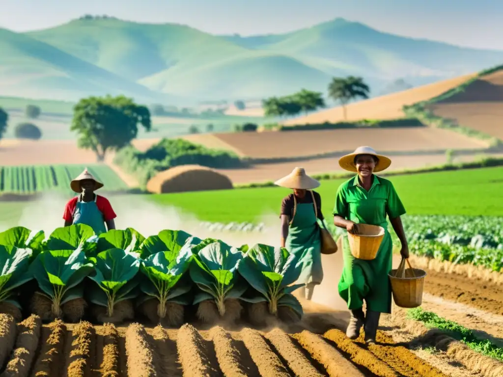
[[[369,224],[358,224],[358,234],[351,234],[348,232],[351,254],[358,259],[375,259],[383,237],[383,227]]]

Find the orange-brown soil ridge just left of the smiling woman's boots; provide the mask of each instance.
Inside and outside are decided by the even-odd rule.
[[[372,373],[381,377],[399,377],[400,374],[393,370],[388,364],[379,360],[372,352],[363,349],[358,344],[349,339],[345,333],[338,329],[332,329],[325,332],[325,338],[337,344],[337,347],[348,353],[351,361],[355,364],[364,366]]]

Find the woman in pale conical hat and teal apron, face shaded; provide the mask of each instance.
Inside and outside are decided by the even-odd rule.
[[[302,264],[298,284],[302,296],[311,300],[314,286],[323,279],[321,268],[321,237],[317,220],[323,224],[321,214],[321,197],[312,191],[320,185],[308,176],[301,167],[296,167],[287,176],[275,184],[293,189],[281,203],[281,246],[296,256],[297,263]]]

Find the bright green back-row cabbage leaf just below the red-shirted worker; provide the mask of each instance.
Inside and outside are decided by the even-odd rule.
[[[96,251],[98,236],[86,224],[56,228],[45,243],[45,250],[82,250],[87,256]]]

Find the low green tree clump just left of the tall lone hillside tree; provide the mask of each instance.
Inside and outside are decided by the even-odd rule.
[[[262,101],[266,116],[297,115],[300,112],[308,113],[325,107],[325,102],[320,92],[302,89],[297,93],[284,97],[271,97]]]

